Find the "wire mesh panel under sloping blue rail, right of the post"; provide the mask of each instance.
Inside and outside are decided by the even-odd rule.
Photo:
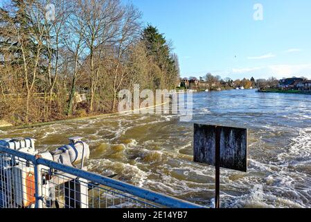
[[[44,207],[55,208],[157,208],[160,205],[148,203],[122,191],[76,178],[69,173],[42,170],[44,183],[48,185],[49,198]],[[43,194],[43,191],[42,191]]]

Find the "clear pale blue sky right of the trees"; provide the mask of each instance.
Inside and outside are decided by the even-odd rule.
[[[125,3],[129,0],[123,0]],[[311,78],[310,0],[131,0],[172,40],[181,76]],[[254,19],[254,5],[263,20]]]

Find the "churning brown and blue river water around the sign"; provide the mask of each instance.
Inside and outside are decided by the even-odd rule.
[[[71,136],[91,145],[91,171],[213,205],[214,169],[193,163],[193,123],[249,128],[249,172],[221,170],[222,207],[311,207],[311,96],[232,90],[194,94],[193,122],[127,114],[1,132],[40,151]]]

